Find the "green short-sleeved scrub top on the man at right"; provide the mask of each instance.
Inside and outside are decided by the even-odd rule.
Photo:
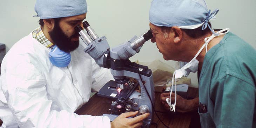
[[[204,57],[199,77],[202,128],[256,128],[256,50],[233,33]]]

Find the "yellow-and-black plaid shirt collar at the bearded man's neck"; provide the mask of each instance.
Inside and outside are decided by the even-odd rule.
[[[38,42],[40,42],[42,45],[44,45],[45,47],[49,48],[49,49],[53,49],[54,44],[52,42],[50,42],[45,35],[43,34],[43,31],[41,29],[41,27],[36,28],[33,32],[32,32],[32,37],[34,39],[36,39]]]

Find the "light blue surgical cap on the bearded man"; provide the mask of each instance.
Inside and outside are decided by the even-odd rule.
[[[40,19],[81,15],[87,12],[86,0],[36,0],[35,12]]]

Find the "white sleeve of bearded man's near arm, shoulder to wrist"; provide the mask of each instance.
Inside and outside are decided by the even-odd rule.
[[[110,128],[108,117],[51,110],[43,69],[32,61],[15,56],[6,62],[6,74],[1,77],[8,106],[21,128]]]

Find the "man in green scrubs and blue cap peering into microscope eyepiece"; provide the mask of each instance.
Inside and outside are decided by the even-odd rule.
[[[198,71],[199,98],[163,93],[161,101],[171,111],[197,110],[203,128],[255,128],[256,50],[228,28],[213,30],[217,13],[204,0],[152,1],[151,41],[165,60],[188,62],[174,78]]]

